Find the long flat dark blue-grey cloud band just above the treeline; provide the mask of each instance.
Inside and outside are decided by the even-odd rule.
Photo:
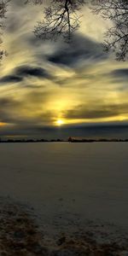
[[[68,137],[86,137],[86,138],[127,138],[128,124],[108,124],[108,125],[79,125],[66,126],[57,129],[42,125],[7,125],[0,128],[0,136],[3,137],[22,137],[22,138],[45,138],[67,139]]]

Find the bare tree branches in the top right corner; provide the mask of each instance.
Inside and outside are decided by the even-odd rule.
[[[128,57],[128,0],[95,0],[92,11],[104,19],[113,21],[105,33],[104,48],[112,49],[118,61]]]

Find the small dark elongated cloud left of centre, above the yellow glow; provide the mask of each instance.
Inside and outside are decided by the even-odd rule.
[[[24,78],[26,78],[26,76],[32,76],[41,79],[51,78],[50,74],[42,67],[21,66],[15,69],[15,73]]]

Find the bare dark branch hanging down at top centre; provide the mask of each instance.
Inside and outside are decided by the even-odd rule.
[[[66,41],[79,28],[78,10],[84,0],[53,0],[52,6],[44,9],[44,20],[38,22],[34,33],[38,38],[56,40],[62,36]]]

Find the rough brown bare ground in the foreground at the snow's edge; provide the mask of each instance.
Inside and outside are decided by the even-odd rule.
[[[96,234],[89,231],[45,239],[23,207],[9,203],[1,206],[0,256],[128,256],[126,241],[99,243]]]

